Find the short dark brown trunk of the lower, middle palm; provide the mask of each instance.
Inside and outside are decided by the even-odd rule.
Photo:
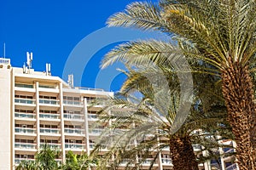
[[[174,170],[198,170],[198,163],[189,136],[175,135],[170,139],[170,152]]]

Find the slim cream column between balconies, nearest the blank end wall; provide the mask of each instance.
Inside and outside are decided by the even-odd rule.
[[[37,124],[36,124],[36,129],[37,129],[37,149],[40,148],[40,120],[39,120],[39,82],[35,83],[36,86],[36,117],[37,117]]]

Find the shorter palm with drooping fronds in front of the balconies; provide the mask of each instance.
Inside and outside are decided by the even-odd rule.
[[[108,106],[102,110],[102,123],[111,122],[111,126],[102,134],[102,139],[98,141],[96,147],[98,150],[102,145],[110,148],[108,154],[102,157],[105,164],[101,167],[108,167],[109,164],[107,163],[112,160],[113,155],[116,157],[111,162],[110,168],[112,169],[118,167],[119,163],[124,160],[128,162],[127,169],[131,168],[131,164],[140,167],[143,161],[150,156],[150,150],[155,150],[158,153],[153,159],[155,161],[160,151],[169,146],[174,169],[198,169],[198,162],[192,147],[192,140],[198,136],[197,133],[192,133],[199,128],[218,127],[217,122],[223,122],[225,111],[222,112],[222,119],[220,119],[216,113],[207,116],[206,113],[199,113],[197,109],[193,111],[193,114],[190,114],[183,127],[177,133],[172,134],[171,127],[177,115],[178,106],[177,88],[175,88],[177,84],[174,83],[176,82],[174,79],[168,78],[170,85],[172,85],[170,89],[173,89],[173,98],[170,104],[166,103],[166,98],[161,97],[165,96],[162,95],[162,90],[154,89],[158,92],[154,93],[152,84],[148,82],[147,77],[143,76],[145,72],[148,73],[151,69],[147,67],[146,70],[125,72],[128,78],[121,88],[121,92],[124,94],[116,99],[111,99]],[[170,75],[172,74],[166,74],[166,76]],[[158,74],[152,72],[150,76],[157,77]],[[143,99],[131,98],[129,94],[135,89],[143,94]],[[155,98],[159,99],[159,102],[154,102]],[[212,102],[212,105],[215,104]],[[164,105],[170,105],[167,115],[163,109]],[[110,115],[108,114],[109,111],[111,111]],[[207,112],[210,112],[210,109]],[[124,127],[128,127],[129,130],[125,130]],[[150,138],[148,134],[151,134]],[[113,138],[109,138],[109,136]],[[203,135],[201,134],[201,136]],[[210,136],[210,133],[207,133],[207,136]],[[140,156],[140,159],[135,159],[137,156]],[[152,161],[151,166],[153,166],[154,161]]]

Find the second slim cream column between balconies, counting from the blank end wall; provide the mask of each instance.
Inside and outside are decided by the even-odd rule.
[[[66,160],[65,150],[65,135],[64,135],[64,106],[63,106],[63,86],[62,82],[59,83],[59,97],[60,97],[60,114],[61,114],[61,150],[62,150],[62,161]]]

